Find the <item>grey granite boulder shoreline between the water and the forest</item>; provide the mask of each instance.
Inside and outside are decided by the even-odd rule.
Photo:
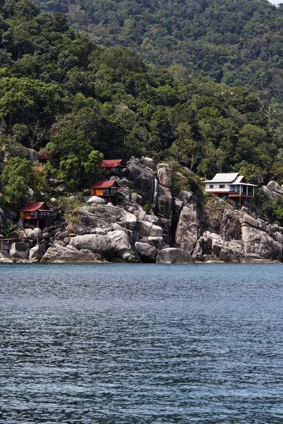
[[[184,175],[173,175],[168,164],[155,167],[151,158],[131,158],[127,168],[127,179],[119,179],[118,206],[86,197],[74,214],[79,224],[22,230],[21,241],[2,242],[0,263],[282,262],[283,228],[257,211],[237,211],[216,198],[203,210],[194,192],[173,187],[173,177],[185,182],[186,168]],[[273,183],[265,192],[283,196]],[[5,214],[8,209],[1,209],[2,220]]]

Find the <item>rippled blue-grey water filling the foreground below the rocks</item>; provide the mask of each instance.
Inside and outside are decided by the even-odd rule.
[[[283,423],[281,264],[1,264],[0,423]]]

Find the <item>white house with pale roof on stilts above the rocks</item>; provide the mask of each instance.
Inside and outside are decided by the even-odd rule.
[[[238,172],[230,174],[216,174],[212,179],[204,181],[205,191],[214,193],[219,197],[226,197],[229,201],[231,197],[236,197],[241,208],[241,198],[255,196],[255,184],[249,184],[243,175]]]

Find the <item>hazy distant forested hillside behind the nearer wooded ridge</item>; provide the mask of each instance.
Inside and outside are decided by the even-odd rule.
[[[283,100],[283,6],[267,0],[37,0],[98,45]]]

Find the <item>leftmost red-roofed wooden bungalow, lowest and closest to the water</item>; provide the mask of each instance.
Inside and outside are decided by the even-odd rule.
[[[20,219],[25,224],[33,225],[34,228],[45,228],[49,226],[50,213],[53,212],[44,201],[33,201],[25,204],[23,208],[18,210]]]

